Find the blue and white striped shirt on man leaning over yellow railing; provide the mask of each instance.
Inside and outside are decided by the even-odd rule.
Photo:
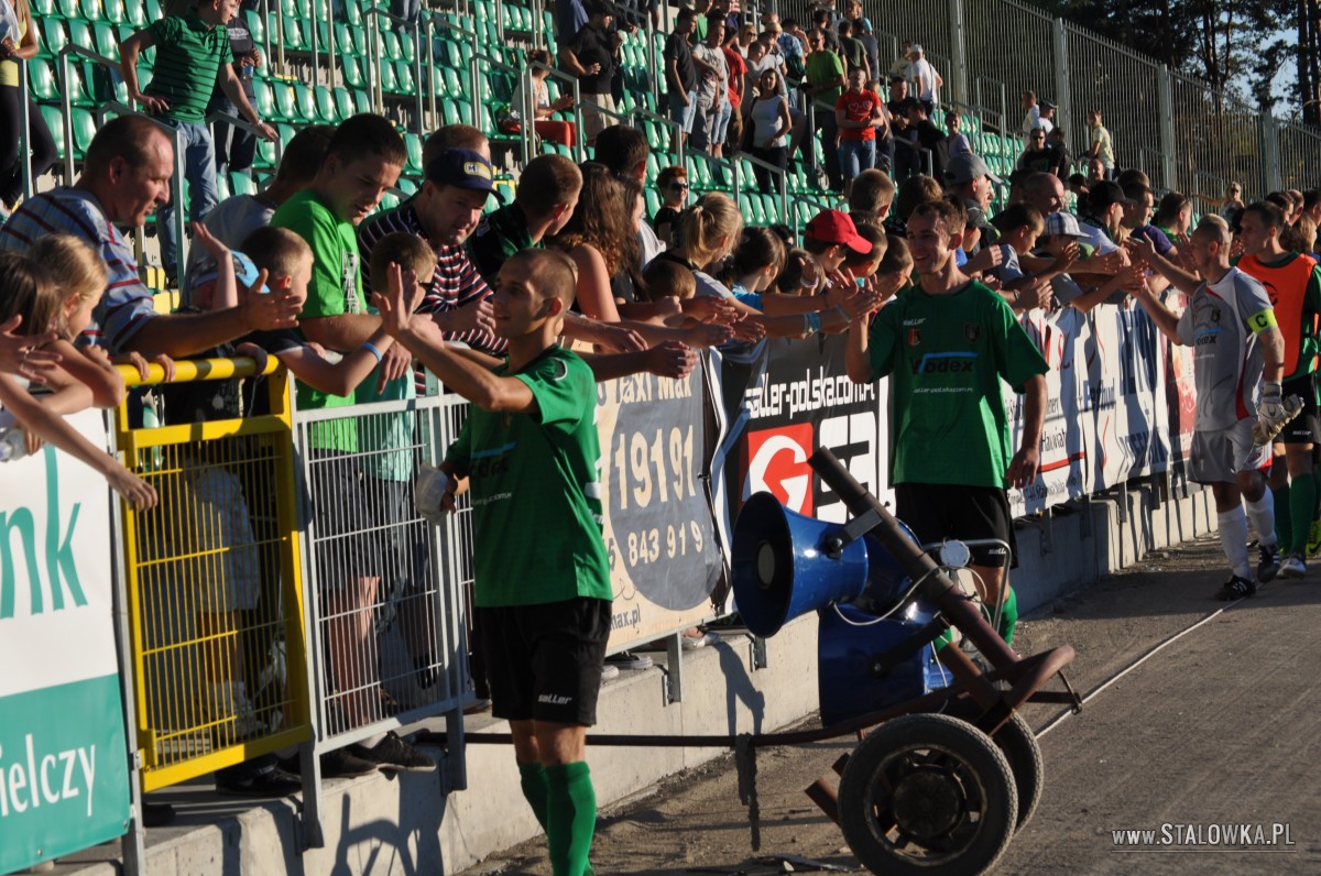
[[[92,310],[79,344],[122,351],[155,314],[152,292],[137,276],[133,248],[106,218],[96,198],[63,185],[22,202],[0,226],[0,250],[26,252],[45,234],[71,234],[100,254],[108,271],[106,295]]]

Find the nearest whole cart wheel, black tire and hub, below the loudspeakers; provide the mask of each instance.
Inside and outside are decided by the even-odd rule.
[[[948,715],[905,715],[857,747],[839,782],[839,823],[873,873],[980,873],[1013,836],[1018,794],[1004,754]]]

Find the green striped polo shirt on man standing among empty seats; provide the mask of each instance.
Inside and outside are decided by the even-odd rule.
[[[147,29],[156,40],[156,67],[144,94],[165,99],[166,119],[203,120],[221,65],[234,59],[229,29],[206,24],[196,12],[153,21]]]

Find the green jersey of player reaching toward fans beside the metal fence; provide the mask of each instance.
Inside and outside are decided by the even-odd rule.
[[[472,406],[445,455],[472,480],[476,604],[610,600],[592,369],[551,346],[513,377],[532,391],[536,415]]]

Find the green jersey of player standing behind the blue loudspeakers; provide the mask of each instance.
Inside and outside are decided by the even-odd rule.
[[[890,375],[890,482],[1005,486],[1013,451],[1003,384],[1049,370],[1004,299],[970,281],[951,295],[914,287],[882,308],[868,353]]]

